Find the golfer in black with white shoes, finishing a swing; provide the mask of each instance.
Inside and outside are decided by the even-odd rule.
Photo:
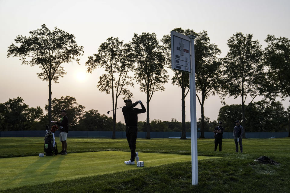
[[[129,161],[125,161],[126,164],[135,164],[136,161],[139,161],[138,152],[136,150],[136,139],[137,139],[137,122],[138,114],[145,113],[146,109],[141,101],[136,101],[132,104],[131,99],[124,100],[126,106],[122,108],[122,112],[125,118],[126,123],[126,137],[131,150],[131,158]],[[142,109],[134,108],[137,104],[140,104]]]

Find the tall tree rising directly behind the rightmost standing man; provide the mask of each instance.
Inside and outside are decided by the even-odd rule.
[[[253,100],[263,95],[265,73],[262,65],[262,49],[257,40],[252,40],[252,34],[236,33],[228,39],[230,50],[224,58],[226,68],[225,91],[234,98],[242,100],[242,125],[244,137],[246,131],[245,102],[247,98]]]

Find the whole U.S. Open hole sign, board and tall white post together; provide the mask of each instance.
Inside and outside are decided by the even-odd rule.
[[[195,36],[193,35],[185,36],[175,31],[171,31],[171,68],[189,72],[192,185],[197,185],[198,165],[194,39]]]

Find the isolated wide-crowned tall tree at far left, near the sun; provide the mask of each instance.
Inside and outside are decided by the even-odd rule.
[[[20,36],[9,46],[7,57],[20,57],[22,64],[39,66],[42,70],[38,78],[48,81],[48,123],[51,121],[51,82],[58,83],[59,77],[66,72],[60,66],[73,60],[79,64],[78,56],[82,55],[83,47],[78,46],[75,36],[54,28],[50,31],[45,24],[40,29],[29,32],[31,36]],[[19,46],[18,46],[19,45]],[[30,58],[30,59],[28,59]]]

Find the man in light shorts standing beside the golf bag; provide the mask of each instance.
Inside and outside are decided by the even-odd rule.
[[[57,121],[52,121],[52,123],[56,123],[57,125],[60,126],[60,142],[62,146],[62,151],[59,154],[66,155],[66,148],[67,148],[67,143],[66,143],[66,138],[67,138],[67,133],[69,132],[69,119],[66,117],[66,111],[62,110],[61,112],[61,120],[60,122]]]

